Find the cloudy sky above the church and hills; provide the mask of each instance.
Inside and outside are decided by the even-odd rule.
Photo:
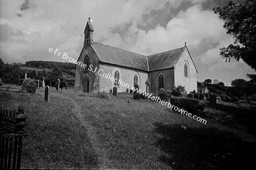
[[[0,0],[0,58],[4,62],[77,59],[88,17],[94,41],[150,55],[187,47],[198,81],[225,84],[255,73],[243,61],[226,63],[219,48],[234,42],[212,7],[228,0]],[[244,3],[244,0],[233,0]]]

